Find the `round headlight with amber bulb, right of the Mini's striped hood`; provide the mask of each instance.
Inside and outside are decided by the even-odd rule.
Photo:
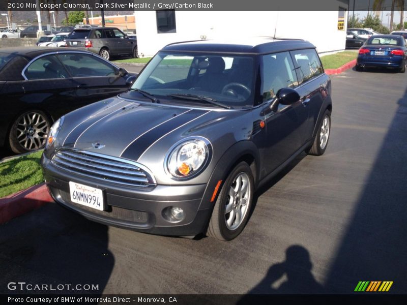
[[[207,139],[190,139],[176,144],[167,158],[167,170],[176,178],[191,177],[197,174],[209,160],[212,152]]]

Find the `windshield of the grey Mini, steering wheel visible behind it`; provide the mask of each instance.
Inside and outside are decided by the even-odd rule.
[[[213,102],[214,107],[220,104],[227,108],[252,106],[253,58],[236,54],[159,52],[131,88],[148,92],[162,102]]]

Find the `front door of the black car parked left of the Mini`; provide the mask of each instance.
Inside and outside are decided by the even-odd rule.
[[[85,53],[60,53],[57,55],[72,75],[78,103],[97,102],[127,90],[126,77],[118,69],[98,56]]]

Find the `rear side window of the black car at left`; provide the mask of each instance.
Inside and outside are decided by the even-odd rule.
[[[55,55],[38,58],[28,66],[24,75],[28,80],[69,77],[68,72]]]

